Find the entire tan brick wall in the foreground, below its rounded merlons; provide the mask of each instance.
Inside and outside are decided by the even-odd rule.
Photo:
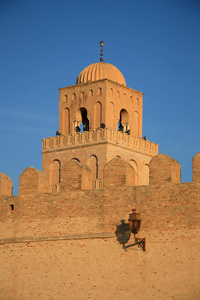
[[[199,193],[181,183],[2,197],[0,299],[198,300]],[[146,252],[115,237],[134,207]]]

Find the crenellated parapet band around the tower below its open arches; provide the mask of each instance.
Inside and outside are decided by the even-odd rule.
[[[158,154],[159,144],[137,138],[121,131],[109,128],[98,128],[97,130],[84,131],[42,139],[42,151],[58,151],[70,148],[78,148],[95,144],[110,143],[121,148],[139,151],[150,156]]]

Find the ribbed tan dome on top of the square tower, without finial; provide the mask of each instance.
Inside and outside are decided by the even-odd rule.
[[[76,80],[76,84],[88,83],[100,79],[110,79],[126,86],[122,73],[113,65],[108,63],[95,63],[86,67]]]

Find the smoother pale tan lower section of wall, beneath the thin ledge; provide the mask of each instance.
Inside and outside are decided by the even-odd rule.
[[[199,300],[197,242],[194,230],[155,230],[147,252],[114,238],[2,245],[0,299]]]

